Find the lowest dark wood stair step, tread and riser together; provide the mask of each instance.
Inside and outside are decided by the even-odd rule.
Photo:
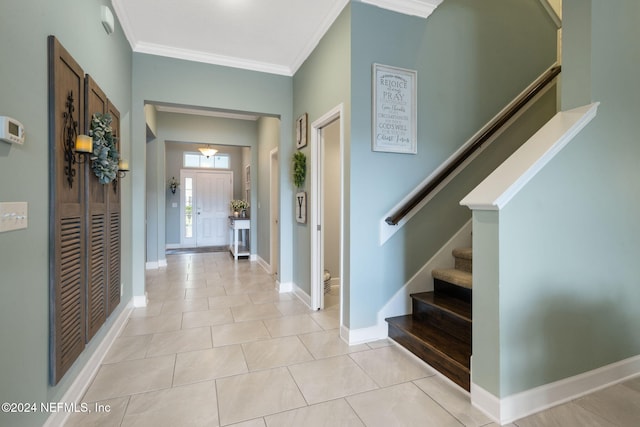
[[[433,366],[465,390],[470,389],[471,346],[412,315],[390,317],[389,338]]]

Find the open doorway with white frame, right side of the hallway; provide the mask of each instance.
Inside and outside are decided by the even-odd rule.
[[[336,304],[342,321],[344,300],[344,130],[343,106],[311,125],[311,308]]]

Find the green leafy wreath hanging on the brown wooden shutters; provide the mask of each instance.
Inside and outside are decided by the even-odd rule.
[[[93,154],[91,170],[98,177],[100,184],[109,184],[118,176],[118,159],[116,137],[111,128],[111,115],[96,113],[91,118],[89,136],[93,137]]]

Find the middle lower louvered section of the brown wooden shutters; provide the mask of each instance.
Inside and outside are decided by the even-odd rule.
[[[106,224],[104,214],[91,215],[89,240],[89,284],[87,288],[87,342],[107,318],[106,312]]]

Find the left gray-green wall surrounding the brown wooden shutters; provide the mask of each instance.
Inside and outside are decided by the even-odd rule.
[[[56,387],[49,385],[49,158],[47,36],[55,35],[92,75],[121,113],[121,142],[130,143],[131,49],[116,23],[107,35],[100,23],[106,0],[3,0],[0,5],[0,115],[21,121],[23,146],[0,142],[0,201],[26,201],[29,227],[0,234],[0,400],[56,402],[103,338],[103,326]],[[123,189],[122,303],[131,298],[128,179]],[[48,414],[0,413],[0,425],[41,425]]]

